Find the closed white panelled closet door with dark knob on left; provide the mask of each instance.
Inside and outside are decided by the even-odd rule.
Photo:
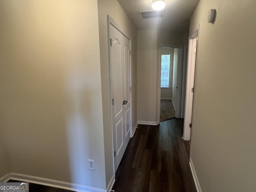
[[[115,172],[130,140],[130,40],[110,24],[110,84]]]

